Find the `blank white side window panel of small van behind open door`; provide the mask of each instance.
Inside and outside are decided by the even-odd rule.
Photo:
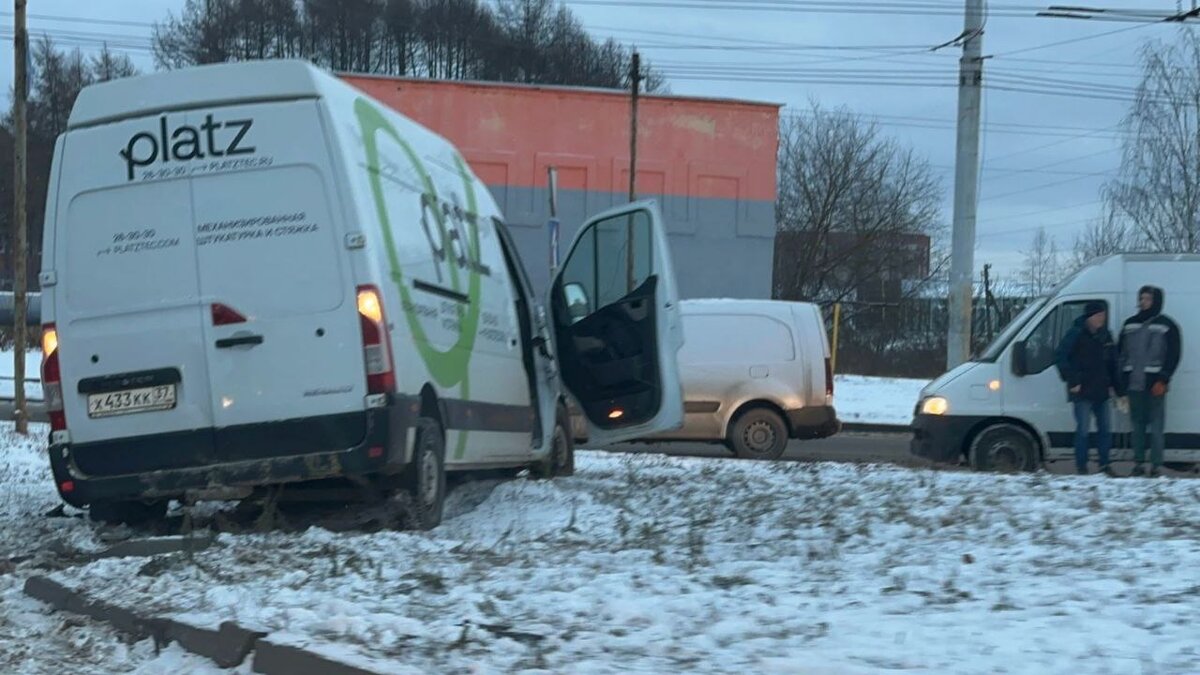
[[[780,363],[796,359],[787,324],[755,315],[684,315],[679,360],[692,364]]]

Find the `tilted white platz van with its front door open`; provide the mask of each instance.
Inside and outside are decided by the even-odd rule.
[[[682,423],[653,202],[581,228],[542,319],[455,148],[307,62],[89,86],[52,175],[50,460],[97,519],[347,477],[432,527],[446,471],[572,471],[559,383],[600,443]]]

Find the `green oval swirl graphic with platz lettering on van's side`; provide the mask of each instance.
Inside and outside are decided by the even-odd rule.
[[[479,215],[475,201],[475,189],[470,174],[462,157],[455,155],[455,163],[462,177],[463,192],[467,199],[466,210],[457,205],[451,208],[438,197],[437,187],[430,179],[420,156],[413,150],[396,129],[376,109],[373,104],[364,98],[354,101],[354,112],[359,119],[359,127],[362,132],[362,142],[366,145],[367,175],[371,181],[371,191],[374,196],[376,210],[379,216],[379,226],[383,231],[384,243],[388,247],[388,263],[391,268],[391,280],[400,291],[401,300],[404,305],[404,316],[408,328],[413,333],[415,346],[421,356],[421,360],[430,369],[433,381],[442,387],[461,386],[462,398],[469,400],[470,395],[470,357],[475,350],[475,338],[479,331],[480,316],[480,276],[490,270],[482,265],[480,259],[479,244]],[[400,257],[396,253],[396,240],[391,229],[391,217],[388,213],[388,202],[384,197],[383,175],[379,171],[379,143],[378,135],[386,133],[403,150],[404,156],[412,163],[413,169],[420,177],[424,192],[421,195],[422,227],[430,240],[433,259],[437,265],[449,268],[450,288],[456,293],[464,293],[468,301],[458,305],[458,340],[446,351],[436,348],[428,340],[428,334],[421,324],[420,318],[410,310],[413,306],[412,291],[404,283],[404,273],[401,269]],[[436,227],[434,233],[430,228],[430,219]],[[450,223],[451,220],[456,222]],[[463,241],[460,226],[467,229],[468,241]],[[438,269],[439,281],[442,270]],[[466,292],[463,291],[463,279],[466,276]],[[467,434],[458,435],[458,446],[455,456],[461,458],[466,449]]]

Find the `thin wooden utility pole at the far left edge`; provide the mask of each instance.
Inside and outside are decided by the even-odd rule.
[[[12,378],[13,378],[13,419],[17,425],[17,434],[29,434],[29,410],[25,402],[25,346],[28,340],[28,327],[25,316],[28,313],[25,286],[28,285],[28,273],[25,270],[25,252],[29,249],[25,239],[28,233],[25,214],[25,148],[26,148],[26,119],[25,98],[29,96],[29,32],[25,31],[25,0],[13,0],[13,104],[12,126],[14,131],[12,145],[12,214],[13,214],[13,348],[12,348]]]

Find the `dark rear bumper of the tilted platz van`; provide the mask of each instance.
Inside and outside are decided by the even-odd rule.
[[[274,447],[260,446],[254,459],[96,476],[80,471],[76,461],[76,450],[86,449],[86,446],[60,443],[50,446],[50,468],[62,501],[74,507],[98,501],[173,498],[191,490],[365,476],[403,464],[408,430],[415,426],[419,412],[420,399],[392,398],[385,407],[365,412],[366,434],[360,442],[320,452],[295,454],[295,447],[287,440]],[[263,430],[257,431],[262,434]],[[170,461],[173,453],[187,452],[180,450],[174,441],[174,435],[164,435],[161,438],[139,437],[136,444],[139,449],[152,447]],[[175,464],[194,461],[191,456],[175,459],[179,460]]]

